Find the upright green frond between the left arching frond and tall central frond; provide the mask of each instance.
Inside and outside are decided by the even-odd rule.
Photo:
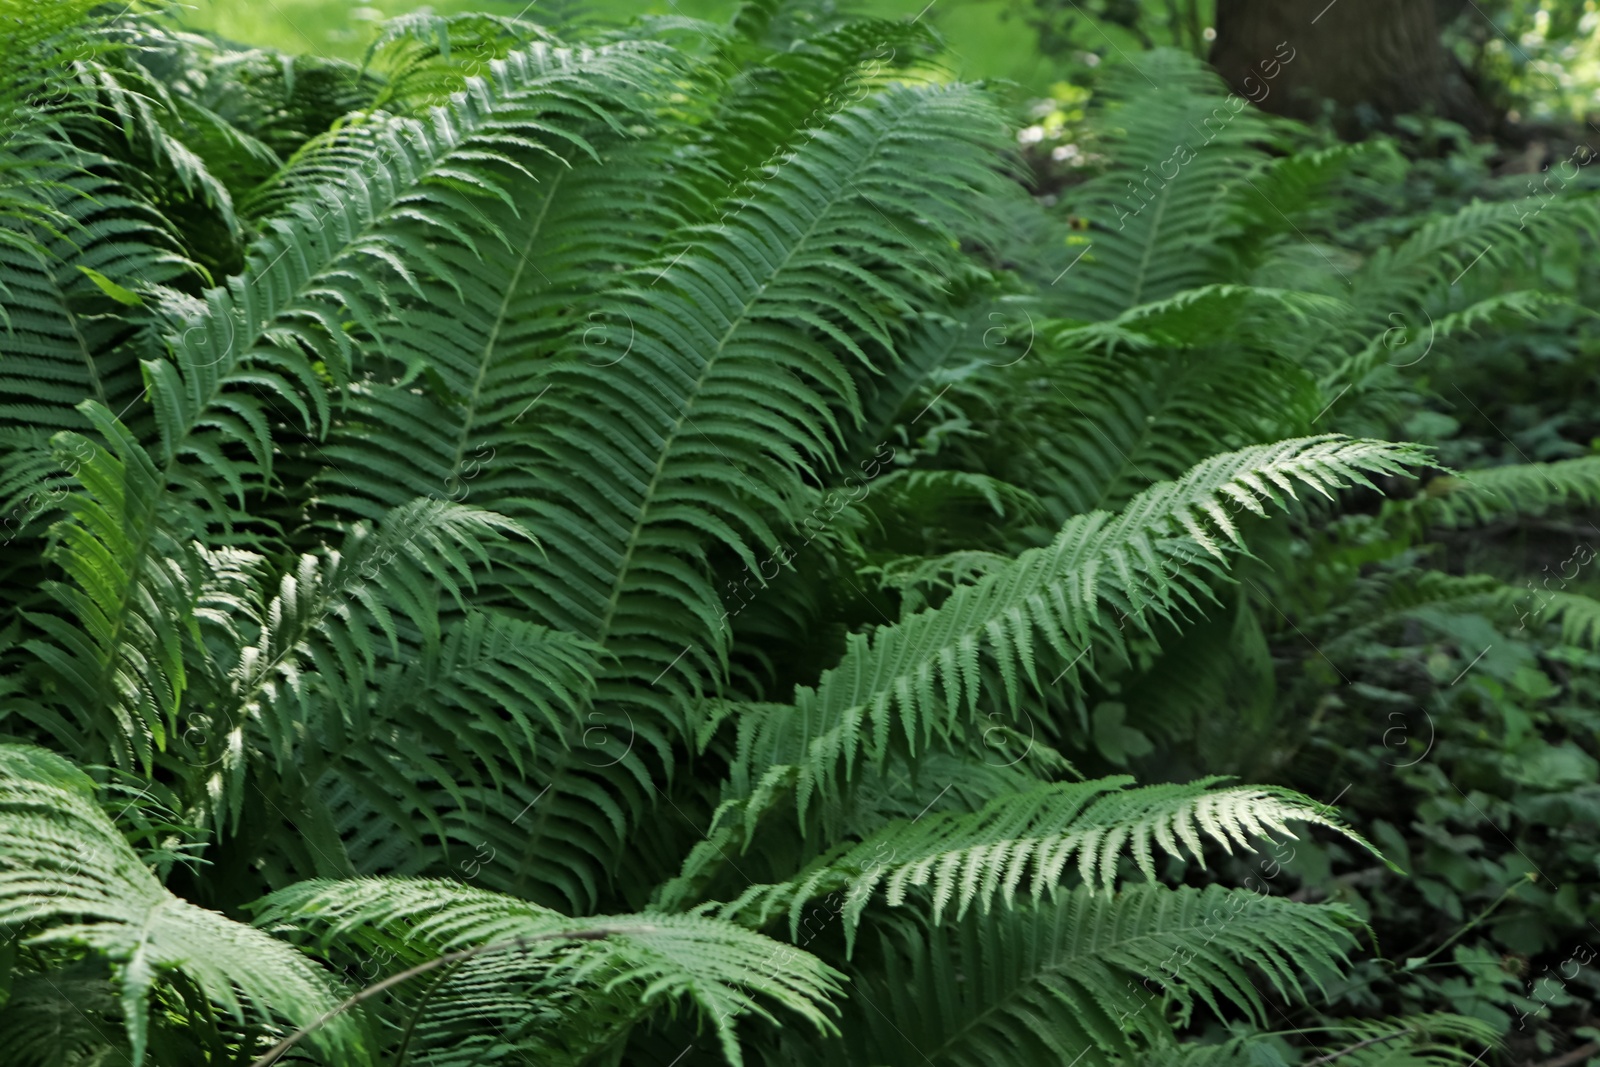
[[[371,517],[422,485],[451,499],[522,501],[539,491],[522,469],[547,414],[546,354],[571,331],[594,366],[627,358],[630,323],[573,309],[618,269],[656,256],[690,200],[678,171],[693,168],[675,165],[674,139],[582,133],[597,158],[573,149],[520,162],[528,174],[506,178],[520,206],[483,208],[502,240],[438,248],[448,282],[421,282],[426,299],[402,302],[382,323],[392,371],[350,390],[347,421],[317,453],[330,461],[318,506]],[[432,389],[419,392],[422,368]]]

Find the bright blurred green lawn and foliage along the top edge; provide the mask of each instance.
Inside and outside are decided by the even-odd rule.
[[[1062,86],[1093,83],[1104,62],[1174,45],[1210,56],[1227,27],[1280,34],[1274,21],[1298,19],[1304,3],[1283,0],[859,0],[816,5],[880,16],[918,16],[950,46],[952,75],[1016,82],[1035,98],[1066,96]],[[637,16],[726,21],[736,0],[187,0],[182,21],[250,45],[358,59],[378,24],[394,14],[432,10],[526,14],[549,24],[619,24]],[[1218,8],[1222,8],[1221,11]],[[1314,6],[1322,8],[1322,3]],[[1334,59],[1326,83],[1366,90],[1371,74],[1397,74],[1403,58],[1371,46],[1403,40],[1408,29],[1437,34],[1445,66],[1483,101],[1485,112],[1514,122],[1573,122],[1600,114],[1600,5],[1595,0],[1338,0],[1328,5],[1318,40]],[[1221,19],[1221,27],[1219,27]],[[1299,19],[1304,22],[1304,19]],[[1411,26],[1406,26],[1406,24]],[[1414,42],[1413,42],[1414,43]],[[1411,50],[1416,54],[1416,50]],[[1397,61],[1398,59],[1398,61]],[[1219,66],[1224,66],[1219,62]],[[1224,74],[1227,74],[1224,67]],[[1403,74],[1403,72],[1402,72]],[[1320,86],[1325,88],[1325,86]]]

